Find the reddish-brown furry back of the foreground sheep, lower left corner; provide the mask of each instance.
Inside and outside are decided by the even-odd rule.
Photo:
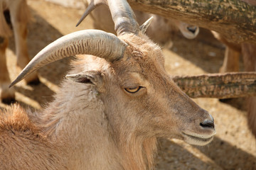
[[[0,169],[66,169],[68,160],[60,157],[65,147],[47,140],[21,106],[11,106],[0,115]]]

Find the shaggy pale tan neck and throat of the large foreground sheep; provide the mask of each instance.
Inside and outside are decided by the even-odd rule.
[[[82,103],[82,107],[73,103]],[[43,134],[53,142],[67,144],[72,168],[153,169],[156,138],[139,137],[124,128],[125,123],[109,123],[93,86],[65,81],[55,101],[43,115],[36,116],[41,117]]]

